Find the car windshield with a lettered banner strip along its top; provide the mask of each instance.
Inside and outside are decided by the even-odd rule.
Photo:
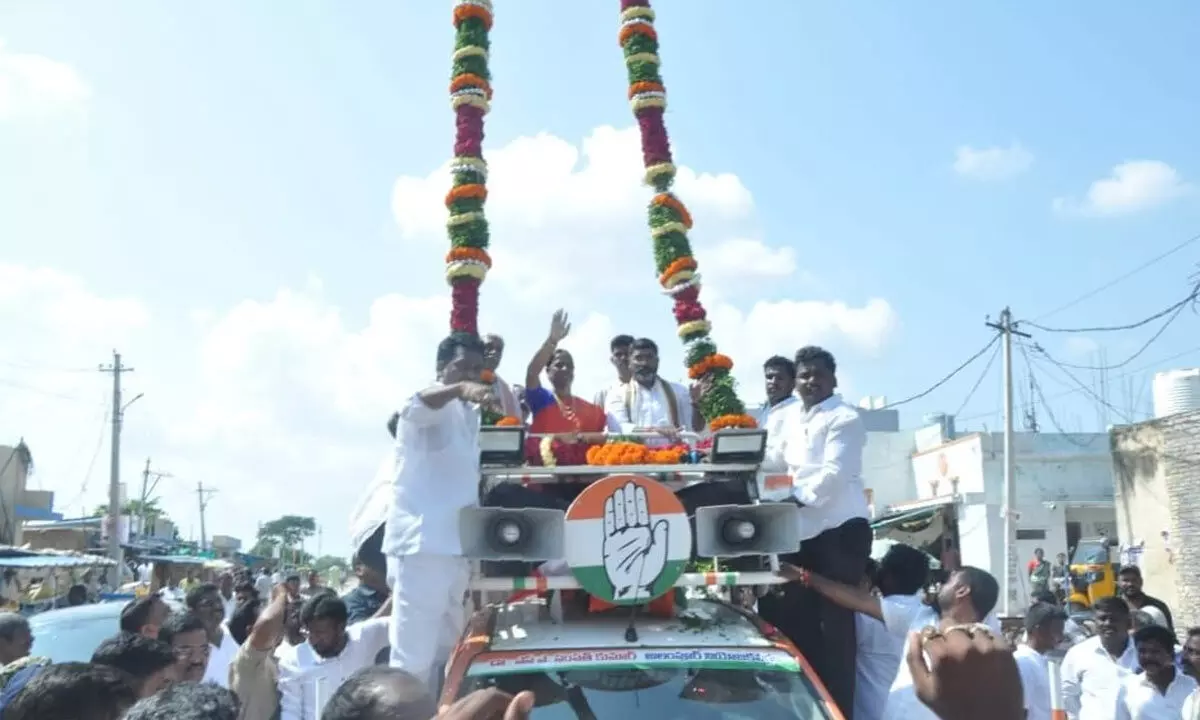
[[[767,661],[704,661],[696,652],[661,653],[680,659],[635,662],[575,662],[559,666],[482,655],[460,696],[496,686],[530,690],[534,720],[694,720],[700,718],[800,718],[827,720],[824,702],[786,653],[746,653]],[[710,652],[703,653],[710,655]],[[581,652],[576,655],[590,655]],[[691,655],[691,658],[683,659]]]

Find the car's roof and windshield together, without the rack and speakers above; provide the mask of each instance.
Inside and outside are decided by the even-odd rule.
[[[841,718],[796,648],[727,602],[692,600],[670,618],[566,612],[556,622],[533,600],[476,614],[443,702],[496,686],[533,691],[534,720]]]

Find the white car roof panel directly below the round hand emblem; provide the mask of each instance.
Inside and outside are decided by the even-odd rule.
[[[637,640],[625,632],[634,619]],[[655,618],[608,611],[556,622],[540,600],[515,602],[493,610],[491,652],[571,648],[772,648],[774,643],[732,606],[714,600],[688,600],[673,618]]]

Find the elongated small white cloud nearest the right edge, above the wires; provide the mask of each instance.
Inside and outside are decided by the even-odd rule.
[[[1084,199],[1057,198],[1055,210],[1085,216],[1130,215],[1164,205],[1190,194],[1195,187],[1165,162],[1135,160],[1112,168],[1112,173],[1092,182]]]

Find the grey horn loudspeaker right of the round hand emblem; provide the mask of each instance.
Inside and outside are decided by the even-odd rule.
[[[737,558],[800,548],[800,509],[794,503],[713,505],[696,509],[696,554]]]

